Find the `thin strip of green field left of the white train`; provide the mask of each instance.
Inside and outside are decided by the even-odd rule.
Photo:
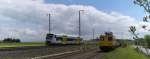
[[[44,42],[0,43],[0,48],[21,46],[44,46]]]

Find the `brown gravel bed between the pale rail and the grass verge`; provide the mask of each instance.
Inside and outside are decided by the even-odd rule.
[[[100,52],[98,49],[92,49],[88,51],[81,51],[78,53],[72,53],[68,55],[62,55],[58,57],[51,57],[45,59],[100,59],[105,55],[104,52]]]

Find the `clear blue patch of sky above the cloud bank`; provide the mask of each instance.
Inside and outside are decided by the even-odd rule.
[[[133,1],[134,0],[45,0],[45,3],[89,5],[105,12],[116,11],[141,20],[145,15],[144,10],[138,5],[135,5]]]

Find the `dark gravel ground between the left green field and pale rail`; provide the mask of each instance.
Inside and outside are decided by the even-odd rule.
[[[33,49],[0,50],[0,59],[30,59],[32,57],[78,50],[80,46],[51,46]]]

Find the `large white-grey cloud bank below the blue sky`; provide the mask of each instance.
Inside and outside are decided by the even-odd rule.
[[[93,6],[45,4],[43,0],[1,0],[0,37],[17,37],[22,41],[44,41],[48,33],[48,13],[51,13],[52,32],[55,34],[78,34],[78,10],[81,13],[81,31],[85,39],[112,31],[121,38],[128,37],[128,26],[138,22],[118,12],[107,13]],[[11,34],[13,33],[13,34]]]

